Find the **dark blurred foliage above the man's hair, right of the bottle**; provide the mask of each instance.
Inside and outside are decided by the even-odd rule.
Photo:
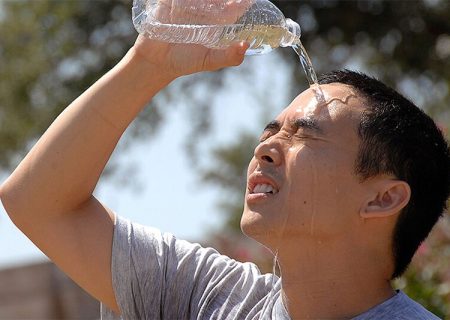
[[[319,72],[343,66],[365,69],[448,120],[449,1],[274,3],[297,17]]]

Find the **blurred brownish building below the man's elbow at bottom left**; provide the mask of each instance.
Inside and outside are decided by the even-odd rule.
[[[0,270],[0,319],[99,318],[99,302],[51,262]]]

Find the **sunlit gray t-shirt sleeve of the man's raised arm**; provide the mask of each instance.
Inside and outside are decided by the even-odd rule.
[[[111,268],[123,319],[197,318],[216,299],[215,288],[245,265],[214,249],[116,219]]]

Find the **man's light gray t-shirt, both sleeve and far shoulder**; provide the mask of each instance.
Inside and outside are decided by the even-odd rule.
[[[102,306],[102,319],[290,320],[281,280],[211,248],[116,218],[112,277],[122,317]],[[399,291],[354,318],[438,319]]]

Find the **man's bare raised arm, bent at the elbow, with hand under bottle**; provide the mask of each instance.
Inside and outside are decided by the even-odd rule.
[[[0,187],[13,222],[81,287],[115,312],[113,215],[92,196],[112,151],[173,79],[243,61],[246,46],[211,50],[139,37],[110,72],[55,120]]]

